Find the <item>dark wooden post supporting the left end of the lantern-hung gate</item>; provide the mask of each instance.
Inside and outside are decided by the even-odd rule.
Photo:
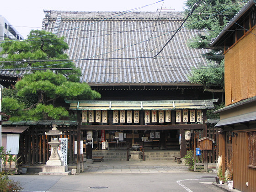
[[[76,135],[77,135],[77,151],[76,151],[76,172],[80,173],[80,140],[81,140],[81,111],[76,111],[76,118],[77,118],[77,128],[76,128]]]

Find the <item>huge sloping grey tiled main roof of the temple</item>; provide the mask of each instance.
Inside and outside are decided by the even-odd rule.
[[[188,48],[197,32],[187,28],[153,58],[180,27],[183,12],[45,10],[45,15],[43,28],[65,37],[69,59],[85,59],[75,65],[90,85],[190,85],[187,75],[207,63],[206,50]]]

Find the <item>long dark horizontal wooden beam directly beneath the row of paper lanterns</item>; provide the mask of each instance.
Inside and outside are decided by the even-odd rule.
[[[81,125],[81,130],[170,130],[170,129],[203,129],[203,124],[179,125]]]

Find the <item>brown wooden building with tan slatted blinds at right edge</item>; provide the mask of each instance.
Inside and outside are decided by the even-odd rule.
[[[233,160],[234,187],[244,192],[256,191],[255,5],[248,1],[212,43],[225,54],[226,107],[216,111],[219,155]]]

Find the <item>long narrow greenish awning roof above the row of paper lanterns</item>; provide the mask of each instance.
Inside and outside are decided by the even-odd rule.
[[[165,100],[165,101],[72,101],[71,110],[180,110],[180,109],[213,109],[211,100]]]

